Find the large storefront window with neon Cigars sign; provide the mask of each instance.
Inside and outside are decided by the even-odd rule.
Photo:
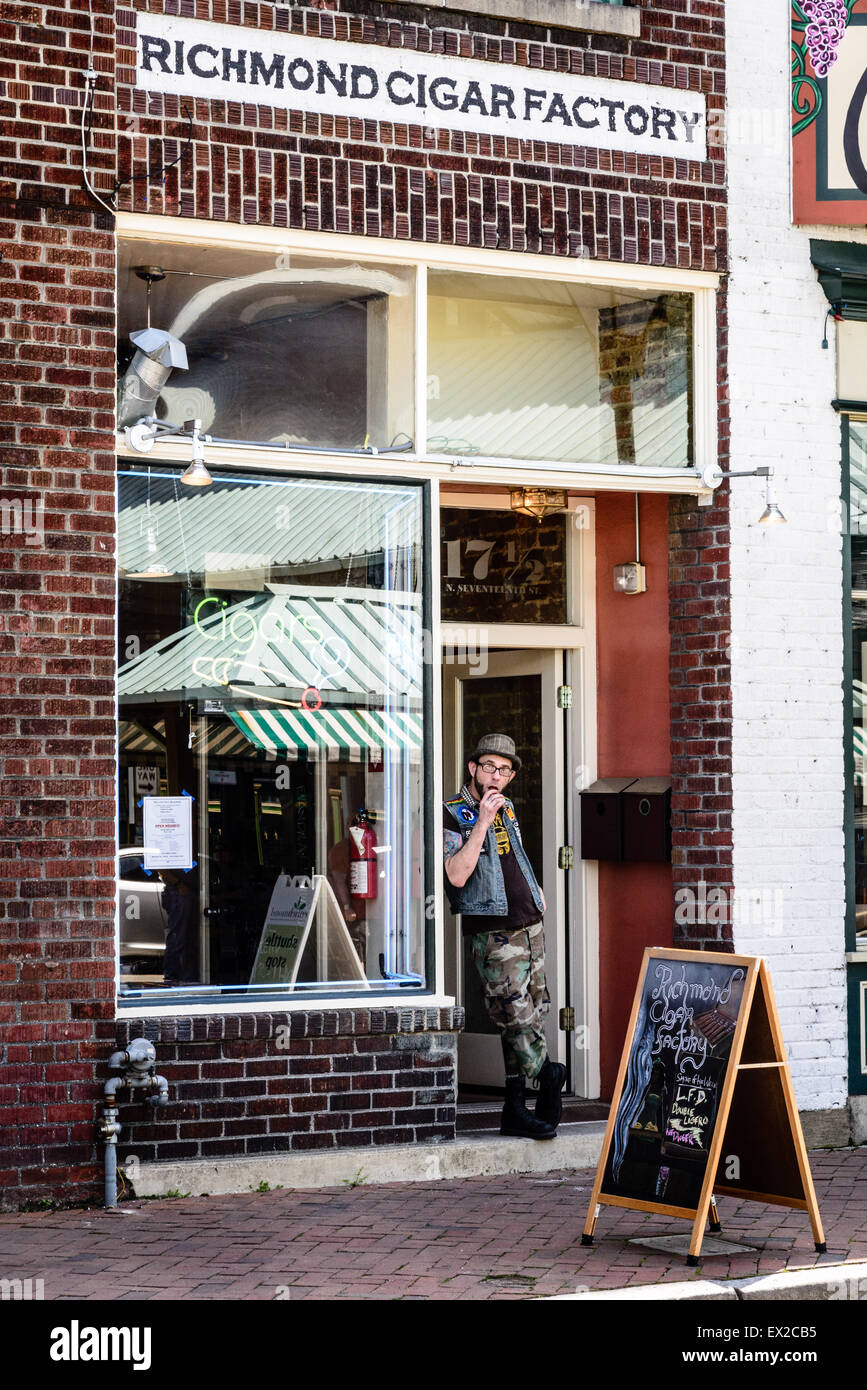
[[[121,994],[425,986],[424,488],[119,473]]]

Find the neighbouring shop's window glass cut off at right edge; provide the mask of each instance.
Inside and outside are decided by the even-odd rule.
[[[849,425],[852,728],[854,741],[854,930],[867,951],[867,425]]]

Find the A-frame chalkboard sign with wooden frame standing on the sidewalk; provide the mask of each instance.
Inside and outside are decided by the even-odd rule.
[[[632,1207],[692,1220],[697,1265],[717,1194],[809,1212],[825,1250],[764,960],[647,949],[582,1244],[602,1207]]]

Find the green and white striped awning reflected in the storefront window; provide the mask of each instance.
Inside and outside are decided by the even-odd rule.
[[[379,762],[408,753],[421,760],[421,714],[383,709],[238,709],[231,719],[257,748],[283,758],[315,760],[370,756]]]

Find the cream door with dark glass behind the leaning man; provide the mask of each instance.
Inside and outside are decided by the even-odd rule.
[[[565,972],[565,874],[557,867],[564,842],[563,713],[557,709],[563,653],[552,651],[489,652],[486,662],[443,667],[443,788],[450,796],[467,780],[467,756],[482,734],[510,734],[521,770],[510,783],[524,848],[542,884],[546,973],[552,997],[546,1019],[552,1058],[565,1061],[559,1009]],[[459,1038],[459,1081],[502,1087],[499,1033],[488,1019],[461,919],[446,908],[446,991],[467,1012]]]

